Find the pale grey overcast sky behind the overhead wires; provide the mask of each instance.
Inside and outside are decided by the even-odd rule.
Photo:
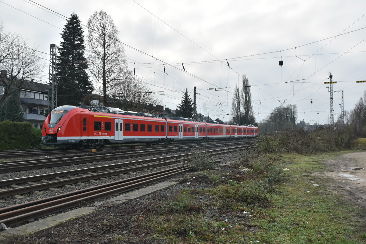
[[[46,53],[40,53],[46,82],[49,46],[59,45],[66,20],[35,3],[64,16],[75,12],[84,25],[96,10],[111,14],[120,41],[133,48],[126,46],[128,67],[165,94],[158,96],[170,109],[186,88],[193,98],[196,86],[198,112],[228,121],[234,87],[245,74],[257,122],[277,106],[296,104],[298,120],[326,124],[329,72],[333,90],[344,90],[345,110],[366,90],[356,83],[366,80],[365,0],[0,0],[5,30]],[[227,88],[207,90],[220,87]],[[336,121],[341,93],[333,95]]]

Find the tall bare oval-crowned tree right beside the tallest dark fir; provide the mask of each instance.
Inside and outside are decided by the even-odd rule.
[[[87,27],[89,72],[100,86],[104,105],[107,106],[107,95],[126,75],[124,47],[119,42],[119,30],[111,15],[104,10],[95,11],[90,16]]]

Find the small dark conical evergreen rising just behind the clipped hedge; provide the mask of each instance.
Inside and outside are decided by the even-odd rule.
[[[6,98],[4,104],[0,107],[0,121],[10,120],[15,122],[23,122],[23,111],[20,106],[19,91],[14,89]]]

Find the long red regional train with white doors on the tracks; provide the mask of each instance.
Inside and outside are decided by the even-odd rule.
[[[42,142],[66,148],[98,148],[111,143],[148,144],[258,136],[258,128],[253,125],[202,123],[120,113],[123,113],[122,110],[116,108],[98,110],[95,107],[70,105],[57,107],[46,117]]]

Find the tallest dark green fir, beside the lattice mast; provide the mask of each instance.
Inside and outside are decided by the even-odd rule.
[[[91,94],[93,84],[86,73],[87,59],[84,56],[84,31],[81,20],[74,13],[64,25],[63,41],[56,58],[57,105],[79,105],[83,95]]]

